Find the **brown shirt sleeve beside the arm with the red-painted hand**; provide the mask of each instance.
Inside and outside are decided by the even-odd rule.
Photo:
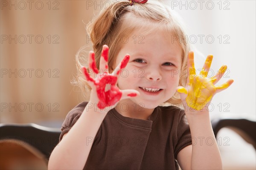
[[[59,142],[61,142],[63,135],[66,134],[73,125],[75,125],[76,121],[79,119],[82,112],[84,111],[84,108],[86,105],[87,105],[87,102],[81,102],[79,105],[73,108],[69,113],[67,113],[67,116],[61,125],[61,135],[59,138]]]

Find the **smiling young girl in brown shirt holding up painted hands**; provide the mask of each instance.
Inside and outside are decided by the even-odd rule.
[[[215,86],[227,66],[207,78],[209,55],[196,74],[182,26],[156,0],[115,1],[88,32],[95,53],[77,83],[90,99],[67,114],[49,169],[222,169],[207,103],[232,84]]]

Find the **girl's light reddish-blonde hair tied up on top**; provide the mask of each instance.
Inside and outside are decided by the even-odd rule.
[[[186,34],[183,26],[178,22],[177,16],[173,14],[173,11],[160,3],[157,0],[148,0],[145,4],[134,3],[130,6],[129,0],[115,1],[108,8],[102,9],[98,17],[95,17],[87,25],[87,33],[93,43],[93,51],[95,52],[96,66],[99,69],[99,60],[101,56],[102,46],[108,45],[109,47],[109,58],[108,66],[109,72],[113,71],[113,65],[116,60],[116,56],[122,48],[122,38],[130,37],[131,34],[136,34],[140,29],[148,30],[143,34],[155,34],[155,31],[163,31],[166,37],[172,40],[178,40],[180,47],[182,48],[182,66],[180,71],[179,85],[186,85],[186,63],[187,54],[189,52],[189,44],[186,42]],[[137,35],[139,36],[139,35]],[[78,85],[85,98],[90,97],[90,86],[84,79],[84,75],[81,72],[81,67],[88,64],[85,63],[84,52],[81,48],[76,54],[76,66],[78,75],[73,80],[74,85]],[[81,62],[80,60],[85,62]],[[164,104],[180,104],[180,97],[175,93],[171,99],[166,101]]]

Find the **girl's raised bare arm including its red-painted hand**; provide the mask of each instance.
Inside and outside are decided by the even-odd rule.
[[[90,102],[84,108],[81,116],[69,130],[59,144],[54,148],[49,158],[48,169],[79,170],[83,169],[89,156],[96,133],[107,115],[107,111],[115,107],[122,99],[135,97],[140,93],[136,90],[119,90],[117,78],[122,68],[125,68],[129,61],[126,55],[122,62],[116,67],[117,73],[109,74],[108,71],[99,73],[93,51],[89,53],[89,66],[96,78],[90,77],[86,68],[82,68],[84,76],[90,85]],[[100,70],[108,68],[108,46],[103,45],[102,56],[100,58]],[[106,85],[110,88],[105,91]],[[97,108],[90,107],[97,105]]]

